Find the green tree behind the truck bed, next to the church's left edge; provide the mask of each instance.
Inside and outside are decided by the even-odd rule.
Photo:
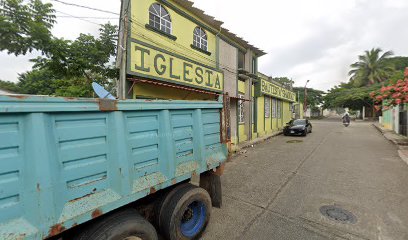
[[[35,70],[50,71],[58,79],[54,95],[92,97],[93,81],[114,90],[119,71],[111,59],[116,54],[118,29],[108,23],[99,30],[98,38],[81,34],[74,41],[54,39],[47,55],[32,60]]]

